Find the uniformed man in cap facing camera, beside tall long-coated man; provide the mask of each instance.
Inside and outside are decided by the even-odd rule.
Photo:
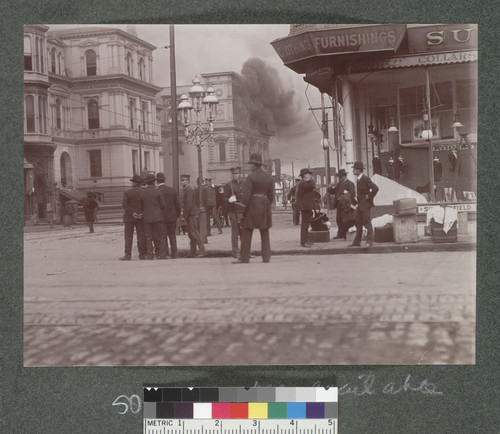
[[[241,219],[243,217],[243,182],[241,181],[241,168],[232,167],[231,181],[224,186],[224,197],[227,202],[229,221],[231,222],[231,251],[233,258],[240,257],[238,240],[241,237]]]

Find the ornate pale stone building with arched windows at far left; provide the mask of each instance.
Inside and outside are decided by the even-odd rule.
[[[160,169],[154,46],[113,28],[24,28],[25,222],[93,191],[120,203]]]

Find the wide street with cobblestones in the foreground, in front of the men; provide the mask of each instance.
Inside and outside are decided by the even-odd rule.
[[[120,235],[26,235],[25,366],[474,363],[473,252],[124,263]]]

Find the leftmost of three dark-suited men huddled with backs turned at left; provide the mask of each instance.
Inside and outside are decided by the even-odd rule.
[[[120,260],[130,261],[132,259],[132,244],[134,239],[134,228],[137,236],[137,250],[139,259],[147,258],[146,232],[144,220],[142,218],[141,185],[144,179],[139,175],[134,175],[131,179],[133,187],[123,194],[123,224],[125,226],[125,256]]]

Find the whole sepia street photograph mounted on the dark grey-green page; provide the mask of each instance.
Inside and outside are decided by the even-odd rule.
[[[478,25],[23,45],[24,367],[476,364]]]

